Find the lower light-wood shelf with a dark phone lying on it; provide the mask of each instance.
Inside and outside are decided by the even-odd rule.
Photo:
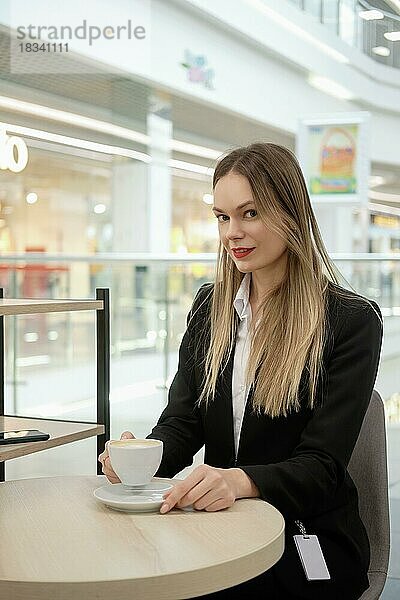
[[[104,433],[104,425],[96,423],[76,423],[74,421],[52,421],[30,417],[0,416],[0,431],[38,429],[49,433],[50,438],[42,442],[23,442],[22,444],[0,445],[0,462],[26,456],[40,450],[63,446],[70,442],[84,440]]]

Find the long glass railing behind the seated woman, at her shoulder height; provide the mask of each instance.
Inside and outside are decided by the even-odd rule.
[[[96,287],[111,289],[112,424],[118,428],[129,415],[144,434],[165,405],[187,312],[198,288],[213,280],[215,258],[9,255],[0,259],[0,283],[6,297],[83,298]],[[388,422],[400,423],[400,256],[332,258],[348,287],[381,306],[377,389]],[[7,413],[95,419],[93,325],[91,312],[5,318]]]

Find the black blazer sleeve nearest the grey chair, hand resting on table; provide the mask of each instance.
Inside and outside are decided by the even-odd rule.
[[[368,408],[378,369],[382,316],[373,304],[345,311],[327,364],[321,402],[287,460],[240,466],[262,499],[286,517],[316,516],[330,501],[346,469]]]

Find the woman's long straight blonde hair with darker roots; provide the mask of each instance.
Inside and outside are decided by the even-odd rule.
[[[213,189],[228,173],[247,178],[262,222],[287,243],[283,280],[271,289],[252,319],[247,384],[259,414],[286,416],[297,411],[299,387],[306,374],[313,408],[326,341],[326,291],[339,283],[339,272],[324,247],[306,184],[295,156],[270,143],[255,143],[230,152],[217,164]],[[233,301],[244,274],[219,243],[208,323],[203,389],[198,403],[215,396],[221,372],[235,345],[238,315]],[[201,345],[204,338],[200,339]]]

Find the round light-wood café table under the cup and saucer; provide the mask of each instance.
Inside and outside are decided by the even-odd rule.
[[[256,577],[282,556],[284,519],[262,500],[210,513],[123,513],[93,497],[106,482],[0,483],[2,600],[192,598]]]

